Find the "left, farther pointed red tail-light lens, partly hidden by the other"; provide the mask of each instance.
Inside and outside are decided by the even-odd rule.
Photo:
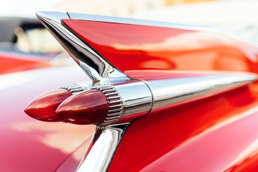
[[[70,96],[72,93],[66,89],[47,92],[32,100],[24,112],[32,118],[45,122],[63,121],[55,115],[55,110]]]

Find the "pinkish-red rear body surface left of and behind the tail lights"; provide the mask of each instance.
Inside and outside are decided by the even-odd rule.
[[[89,142],[95,126],[42,122],[24,108],[40,94],[83,81],[90,79],[77,65],[0,76],[0,171],[54,171],[69,156],[74,162],[70,167],[78,167],[86,148],[77,156],[73,153]]]

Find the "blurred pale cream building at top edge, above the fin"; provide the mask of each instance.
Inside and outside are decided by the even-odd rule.
[[[127,17],[148,9],[158,9],[166,5],[166,0],[68,0],[54,6],[56,11],[88,13]]]

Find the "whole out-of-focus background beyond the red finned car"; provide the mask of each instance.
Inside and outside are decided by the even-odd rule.
[[[0,6],[0,68],[6,68],[5,72],[13,72],[6,67],[12,66],[12,61],[6,58],[20,58],[21,55],[18,56],[15,52],[25,53],[30,62],[37,59],[36,62],[42,62],[42,66],[45,66],[45,61],[47,65],[67,63],[68,54],[61,53],[63,48],[39,23],[35,17],[36,11],[76,12],[207,25],[233,32],[256,43],[257,9],[257,0],[8,0]],[[18,63],[17,66],[21,67]],[[32,68],[38,66],[27,66],[26,69]]]

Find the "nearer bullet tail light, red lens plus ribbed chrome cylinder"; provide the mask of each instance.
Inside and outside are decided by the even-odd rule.
[[[137,89],[132,87],[135,83]],[[141,99],[142,96],[144,100]],[[132,81],[121,85],[93,86],[90,90],[67,98],[55,114],[73,124],[109,125],[142,117],[149,112],[150,107],[149,88],[141,81]],[[125,119],[121,119],[123,114],[126,116]]]

